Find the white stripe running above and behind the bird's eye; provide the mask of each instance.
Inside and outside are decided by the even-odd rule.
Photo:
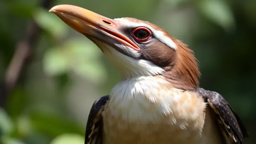
[[[122,21],[121,24],[125,24],[126,26],[149,28],[152,31],[152,33],[154,34],[154,36],[157,37],[157,39],[159,41],[161,41],[162,43],[165,43],[170,48],[177,50],[177,45],[169,37],[165,36],[163,31],[155,30],[148,24],[131,22],[129,20],[126,20],[125,18],[115,18],[114,20],[117,20],[117,21],[121,20]]]

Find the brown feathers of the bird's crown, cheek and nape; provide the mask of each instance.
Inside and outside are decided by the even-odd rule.
[[[164,36],[174,42],[176,48],[170,48],[165,43],[160,42],[159,37],[152,37],[148,43],[138,43],[142,52],[142,59],[148,60],[165,70],[162,74],[171,85],[178,89],[194,90],[199,87],[199,77],[201,76],[198,60],[194,52],[187,48],[187,45],[175,39],[163,28],[147,21],[135,18],[126,18],[134,23],[143,23],[156,31],[162,31]]]

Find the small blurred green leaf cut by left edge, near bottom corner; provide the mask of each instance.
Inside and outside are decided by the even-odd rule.
[[[0,133],[9,134],[14,130],[14,125],[8,114],[0,108]]]

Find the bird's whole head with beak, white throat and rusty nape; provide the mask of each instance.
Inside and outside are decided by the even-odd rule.
[[[110,19],[72,5],[58,5],[50,12],[93,41],[123,79],[162,75],[178,89],[199,85],[192,50],[155,24],[136,18]]]

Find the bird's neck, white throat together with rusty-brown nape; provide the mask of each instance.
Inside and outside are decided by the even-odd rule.
[[[122,54],[111,46],[104,53],[119,71],[123,81],[137,80],[140,77],[162,75],[172,87],[194,90],[199,86],[200,71],[192,51],[184,43],[179,44],[177,60],[174,64],[161,68],[143,59],[134,59]],[[152,80],[152,83],[157,83]]]

